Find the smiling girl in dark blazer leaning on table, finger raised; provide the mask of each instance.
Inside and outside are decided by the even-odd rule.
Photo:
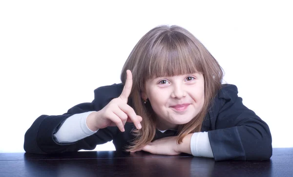
[[[92,102],[63,115],[37,118],[25,134],[24,150],[92,150],[113,140],[117,151],[131,153],[269,159],[268,125],[222,78],[218,62],[186,29],[155,27],[130,53],[122,83],[97,88]]]

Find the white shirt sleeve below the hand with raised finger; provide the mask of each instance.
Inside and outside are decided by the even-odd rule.
[[[86,125],[86,118],[92,112],[94,111],[75,114],[67,118],[58,132],[54,134],[57,141],[60,143],[70,143],[95,134],[98,130],[93,132]]]

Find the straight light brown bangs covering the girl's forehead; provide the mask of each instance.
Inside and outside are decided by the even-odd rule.
[[[186,36],[166,35],[149,51],[146,78],[203,72],[196,45]]]

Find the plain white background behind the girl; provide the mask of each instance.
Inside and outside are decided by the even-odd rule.
[[[161,24],[197,37],[244,104],[269,124],[273,147],[293,147],[291,3],[0,1],[0,152],[24,152],[24,134],[40,115],[63,114],[91,102],[95,88],[119,83],[134,45]]]

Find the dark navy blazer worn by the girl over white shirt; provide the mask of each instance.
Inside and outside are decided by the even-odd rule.
[[[58,116],[42,115],[27,130],[24,137],[24,150],[28,153],[52,154],[81,149],[93,150],[97,144],[113,140],[116,151],[134,137],[130,131],[133,123],[126,123],[125,132],[117,127],[100,129],[92,136],[74,143],[57,143],[55,134],[63,121],[78,113],[99,111],[113,98],[120,96],[123,84],[99,87],[94,91],[95,98],[91,103],[81,103],[70,108],[67,113]],[[214,159],[218,160],[267,160],[272,156],[272,136],[269,126],[253,111],[242,104],[237,96],[235,85],[223,84],[216,95],[209,113],[204,119],[202,132],[209,131],[209,141]],[[131,106],[131,103],[128,102]],[[175,136],[176,131],[157,130],[154,139]]]

